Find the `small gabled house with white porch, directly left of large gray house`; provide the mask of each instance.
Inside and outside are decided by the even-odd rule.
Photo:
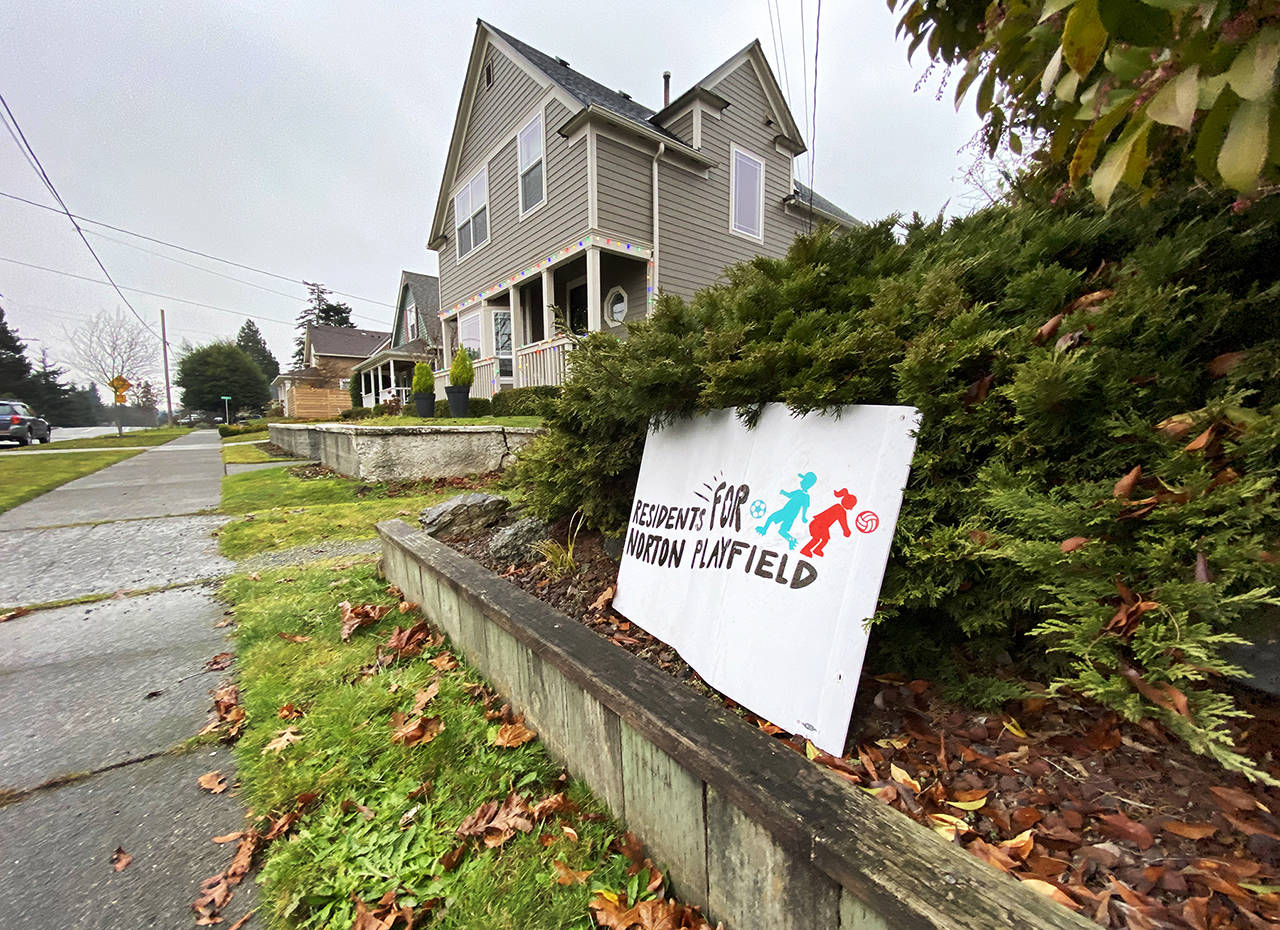
[[[401,271],[396,293],[396,319],[385,345],[357,365],[352,375],[360,379],[365,407],[372,407],[396,394],[401,403],[412,393],[413,366],[426,362],[440,367],[440,281],[431,275]]]

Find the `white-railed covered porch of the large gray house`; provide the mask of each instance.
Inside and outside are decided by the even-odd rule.
[[[444,339],[436,397],[444,397],[448,362],[471,353],[471,397],[509,388],[561,385],[576,335],[625,333],[649,312],[652,256],[617,239],[585,237],[492,289],[440,315]]]

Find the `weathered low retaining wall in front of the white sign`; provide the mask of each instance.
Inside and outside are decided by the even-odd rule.
[[[388,578],[728,930],[1096,925],[401,521]]]

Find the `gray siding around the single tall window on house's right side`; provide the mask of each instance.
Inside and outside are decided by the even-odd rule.
[[[756,255],[782,256],[800,221],[788,216],[782,198],[792,191],[792,159],[773,145],[776,129],[764,90],[750,61],[724,77],[716,92],[730,101],[719,119],[703,116],[703,154],[716,159],[708,177],[667,162],[659,166],[658,287],[690,297],[721,278],[728,265]],[[764,159],[764,243],[730,232],[731,145]]]

